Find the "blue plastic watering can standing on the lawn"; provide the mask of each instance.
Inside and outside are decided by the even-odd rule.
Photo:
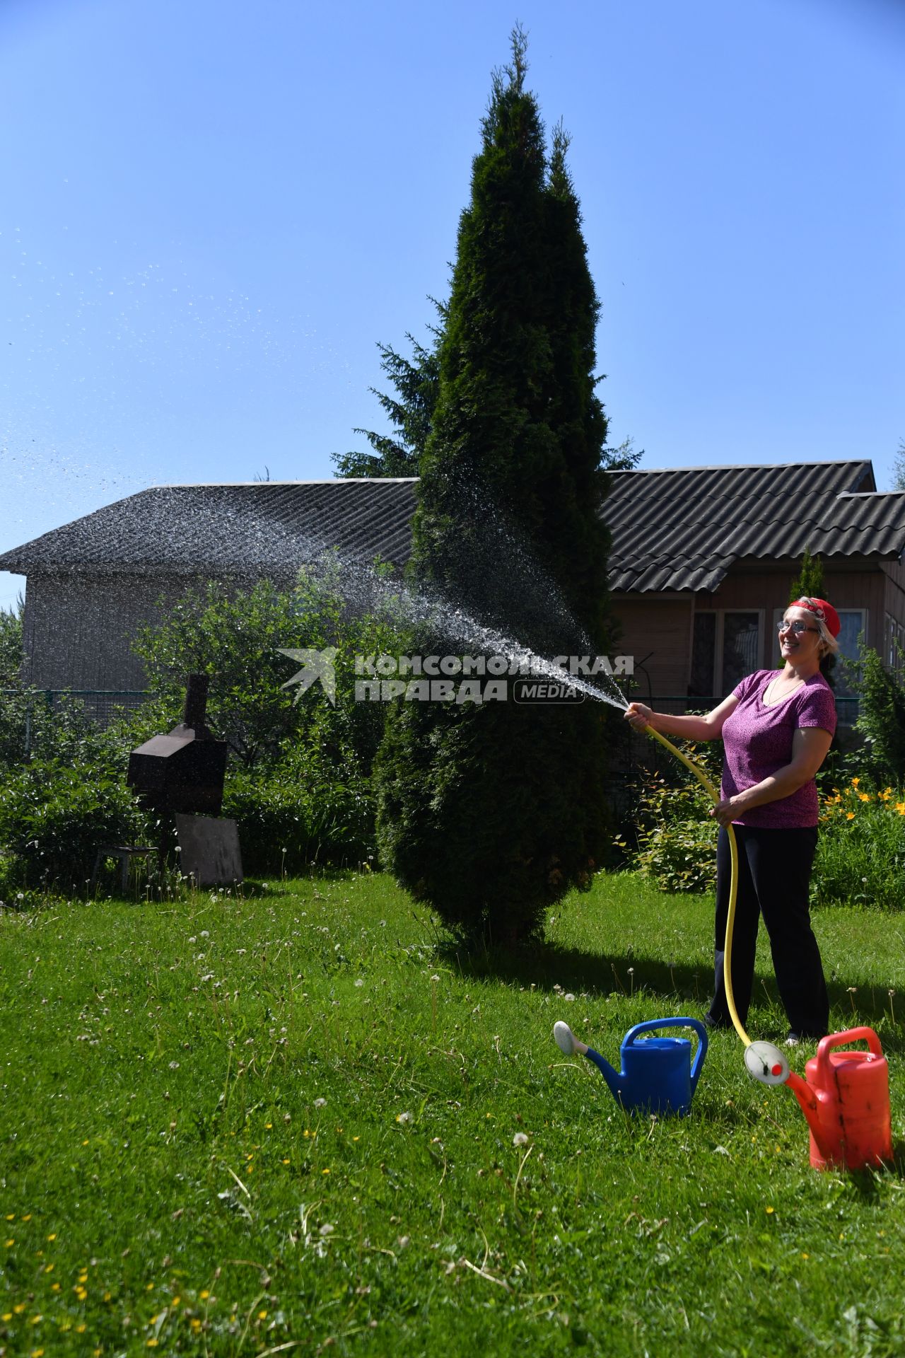
[[[692,1044],[688,1038],[644,1038],[642,1033],[659,1028],[693,1028],[697,1033],[697,1051],[692,1063]],[[704,1057],[707,1055],[707,1029],[697,1019],[649,1019],[635,1024],[623,1038],[620,1047],[621,1070],[613,1070],[608,1061],[578,1042],[564,1023],[554,1029],[556,1042],[563,1051],[578,1051],[597,1066],[609,1085],[613,1099],[627,1112],[654,1112],[661,1116],[684,1118],[697,1088]],[[566,1044],[566,1035],[571,1047]]]

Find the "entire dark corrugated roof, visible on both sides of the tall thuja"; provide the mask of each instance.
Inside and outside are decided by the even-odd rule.
[[[898,557],[905,492],[868,460],[609,473],[615,591],[715,589],[741,558]],[[0,569],[292,572],[338,547],[403,564],[417,478],[156,486],[0,557]]]

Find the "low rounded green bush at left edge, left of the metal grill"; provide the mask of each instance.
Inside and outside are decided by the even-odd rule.
[[[0,846],[23,883],[81,889],[102,843],[145,834],[136,799],[100,765],[34,760],[0,784]]]

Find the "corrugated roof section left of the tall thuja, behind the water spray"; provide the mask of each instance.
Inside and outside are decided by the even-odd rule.
[[[415,478],[153,486],[14,547],[1,570],[296,570],[327,547],[402,564]]]

